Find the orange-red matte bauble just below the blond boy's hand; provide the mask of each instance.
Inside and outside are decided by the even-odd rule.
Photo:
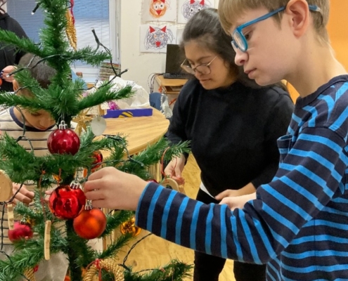
[[[94,239],[103,234],[106,217],[100,209],[84,210],[74,219],[73,226],[79,237]]]

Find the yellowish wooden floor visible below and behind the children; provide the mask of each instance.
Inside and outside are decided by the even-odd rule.
[[[186,195],[195,198],[200,185],[200,169],[192,156],[189,157],[188,163],[185,166],[183,178],[186,181],[184,186]],[[142,230],[138,238],[140,239],[147,234],[148,232],[146,230]],[[121,263],[130,247],[131,244],[119,254],[119,261]],[[132,249],[125,264],[127,266],[133,266],[134,271],[138,271],[149,268],[160,268],[160,266],[164,266],[171,259],[179,259],[180,261],[193,264],[193,250],[168,242],[155,235],[150,235]],[[186,279],[186,281],[188,280],[192,280],[192,278]],[[235,281],[233,277],[233,261],[228,260],[226,262],[219,281]]]

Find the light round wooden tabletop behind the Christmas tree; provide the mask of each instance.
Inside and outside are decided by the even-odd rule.
[[[120,133],[127,139],[129,155],[144,150],[162,138],[168,130],[169,120],[165,115],[153,108],[152,116],[105,118],[105,135]]]

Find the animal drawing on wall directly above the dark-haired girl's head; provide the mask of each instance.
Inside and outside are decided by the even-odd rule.
[[[213,8],[214,0],[178,0],[178,23],[186,23],[195,13],[204,8]]]

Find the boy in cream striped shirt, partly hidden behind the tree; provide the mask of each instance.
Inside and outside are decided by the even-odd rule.
[[[32,67],[39,62],[40,58],[35,57],[31,53],[27,53],[20,59],[20,65]],[[39,63],[37,66],[30,68],[32,77],[37,79],[41,88],[47,89],[51,83],[50,79],[56,73],[52,67],[46,65],[46,63]],[[17,81],[13,81],[13,89],[17,91],[18,95],[32,96],[32,93],[28,89],[20,89]],[[24,131],[25,124],[25,134]],[[51,118],[49,112],[44,110],[38,110],[32,112],[31,110],[22,109],[18,107],[11,107],[8,110],[0,112],[0,128],[2,133],[5,132],[17,139],[23,134],[32,144],[34,148],[34,154],[37,156],[43,156],[48,153],[47,138],[49,134],[56,129],[55,121]],[[27,150],[31,150],[30,143],[28,141],[20,141],[20,144]],[[20,161],[20,159],[18,159]],[[13,194],[18,190],[20,185],[13,184]],[[15,200],[25,202],[29,204],[32,202],[34,192],[32,192],[33,185],[23,185],[20,188],[20,192],[15,197]],[[0,214],[1,216],[1,214]],[[8,240],[8,222],[7,214],[4,214],[3,224],[3,249],[6,254],[11,254],[13,251],[13,245]],[[0,253],[0,259],[5,259],[5,255]],[[67,259],[63,254],[55,254],[51,256],[49,261],[42,261],[39,263],[35,278],[37,281],[63,281],[67,272]]]

